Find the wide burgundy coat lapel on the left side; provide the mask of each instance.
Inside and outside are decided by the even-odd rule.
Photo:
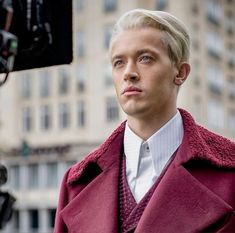
[[[62,210],[69,232],[118,232],[118,177],[122,147],[121,134],[97,161],[103,171]]]

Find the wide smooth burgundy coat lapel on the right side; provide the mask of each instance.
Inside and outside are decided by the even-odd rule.
[[[197,181],[183,166],[163,176],[135,233],[198,233],[233,209]]]

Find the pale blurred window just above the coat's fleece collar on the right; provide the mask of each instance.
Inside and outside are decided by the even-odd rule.
[[[213,129],[224,128],[224,107],[220,101],[216,100],[209,101],[208,125]]]

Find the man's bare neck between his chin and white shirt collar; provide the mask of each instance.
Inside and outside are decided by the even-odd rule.
[[[159,114],[148,118],[136,118],[128,116],[127,122],[130,129],[146,141],[155,132],[157,132],[163,125],[165,125],[177,113],[177,109],[165,114]]]

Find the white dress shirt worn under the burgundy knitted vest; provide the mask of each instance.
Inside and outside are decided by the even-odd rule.
[[[140,200],[161,174],[183,139],[183,121],[179,111],[147,141],[138,137],[126,123],[124,153],[126,176],[131,192]]]

